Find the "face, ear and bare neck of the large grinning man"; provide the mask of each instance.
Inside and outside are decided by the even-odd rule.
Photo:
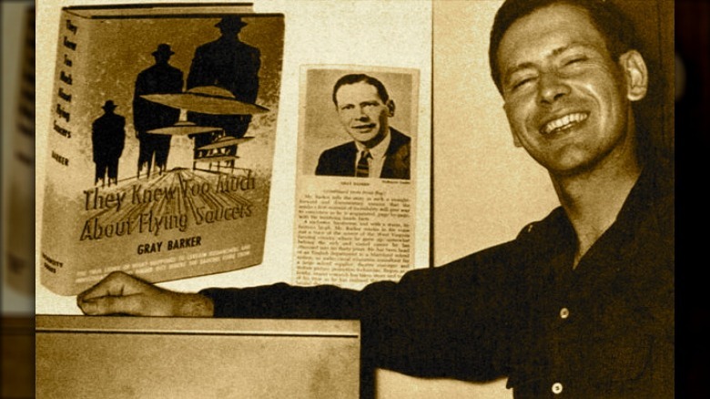
[[[613,56],[589,12],[570,3],[515,21],[495,67],[513,141],[548,170],[577,233],[576,267],[638,179],[631,104],[645,96],[648,79],[638,51]]]

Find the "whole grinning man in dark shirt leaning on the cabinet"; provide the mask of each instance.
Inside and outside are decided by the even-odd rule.
[[[507,376],[516,398],[672,398],[674,177],[636,128],[649,81],[637,47],[611,1],[507,0],[498,11],[490,63],[513,142],[548,170],[561,203],[514,240],[360,292],[179,293],[115,273],[79,306],[359,319],[366,371]]]

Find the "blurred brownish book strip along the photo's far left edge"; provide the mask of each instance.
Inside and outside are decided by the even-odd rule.
[[[35,7],[2,5],[3,311],[32,313],[35,294]]]

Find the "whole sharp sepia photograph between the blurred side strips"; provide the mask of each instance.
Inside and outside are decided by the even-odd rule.
[[[141,62],[109,67],[76,64],[73,30],[103,32],[89,36],[103,48],[106,27],[133,32],[131,17],[80,26],[39,3],[60,30],[56,85],[37,102],[50,182],[37,270],[69,270],[44,242],[74,213],[47,202],[84,185],[80,208],[96,215],[78,238],[128,266],[93,261],[70,292],[37,276],[38,397],[675,397],[674,2],[213,6],[167,5],[155,23],[172,33],[132,35]],[[209,70],[245,73],[198,79]],[[100,84],[67,92],[80,72]],[[76,154],[57,144],[68,136],[83,140]],[[77,178],[53,187],[76,159]],[[192,182],[177,204],[148,190],[176,171]],[[210,207],[248,208],[254,187],[269,194],[259,225],[193,230]],[[121,211],[158,215],[137,224],[155,237],[129,249],[147,264],[106,245],[125,238],[104,228],[130,226]],[[255,230],[263,251],[246,267]],[[162,248],[189,259],[160,250],[158,234],[177,231]],[[208,237],[229,248],[206,250]],[[150,274],[209,259],[225,269]]]

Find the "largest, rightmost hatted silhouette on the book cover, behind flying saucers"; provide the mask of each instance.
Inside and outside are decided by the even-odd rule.
[[[239,32],[246,25],[238,15],[225,16],[215,25],[221,36],[195,50],[188,74],[188,89],[218,86],[228,89],[239,101],[253,104],[257,100],[261,52],[239,40]],[[223,128],[226,136],[242,138],[247,133],[251,116],[190,112],[188,119],[199,126]],[[193,138],[197,150],[214,137],[212,133],[203,133]],[[229,155],[236,153],[236,146],[228,148]]]

